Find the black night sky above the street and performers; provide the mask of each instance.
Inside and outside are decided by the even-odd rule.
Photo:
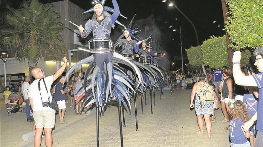
[[[43,3],[49,3],[59,0],[40,0]],[[93,7],[91,0],[70,0],[84,10]],[[222,13],[221,0],[172,0],[175,4],[195,25],[199,43],[201,44],[205,39],[210,36],[223,36],[224,20]],[[130,20],[134,14],[136,19],[147,18],[149,15],[154,14],[156,23],[161,30],[162,34],[167,37],[163,42],[167,44],[167,51],[170,60],[173,56],[181,55],[180,47],[180,33],[179,26],[182,30],[182,44],[183,54],[186,55],[184,49],[190,46],[196,46],[197,40],[195,31],[189,21],[177,10],[175,7],[168,6],[169,1],[162,2],[162,0],[117,0],[120,12]],[[17,4],[17,1],[12,2]],[[111,0],[107,0],[106,6],[113,7]],[[79,14],[81,15],[81,14]],[[119,17],[118,20],[127,21]],[[216,21],[216,23],[213,23]],[[165,23],[167,22],[167,23]],[[220,27],[218,27],[220,25]],[[169,28],[172,26],[172,28]],[[172,31],[177,29],[178,31]],[[154,34],[153,34],[154,35]],[[169,37],[170,36],[170,37]],[[174,39],[174,40],[172,40]]]

